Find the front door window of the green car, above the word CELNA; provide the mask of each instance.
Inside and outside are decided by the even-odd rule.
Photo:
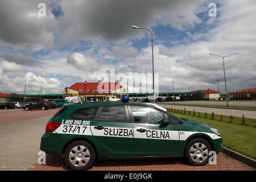
[[[135,122],[157,124],[164,121],[164,114],[151,107],[130,106]]]

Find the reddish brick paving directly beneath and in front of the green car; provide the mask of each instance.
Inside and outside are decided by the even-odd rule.
[[[63,171],[68,170],[63,158],[47,155],[46,165],[35,164],[29,171]],[[217,155],[217,164],[206,166],[190,166],[183,158],[168,159],[126,159],[126,160],[97,160],[92,171],[255,171],[247,166],[222,154]]]

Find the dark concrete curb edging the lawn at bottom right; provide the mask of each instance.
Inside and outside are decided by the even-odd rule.
[[[242,163],[247,164],[250,167],[253,167],[256,169],[256,160],[249,158],[245,155],[242,155],[236,151],[230,150],[229,148],[223,147],[224,154],[229,155],[230,157],[239,160]]]

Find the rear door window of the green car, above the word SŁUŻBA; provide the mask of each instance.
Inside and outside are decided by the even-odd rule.
[[[126,122],[125,106],[104,106],[97,121]]]

